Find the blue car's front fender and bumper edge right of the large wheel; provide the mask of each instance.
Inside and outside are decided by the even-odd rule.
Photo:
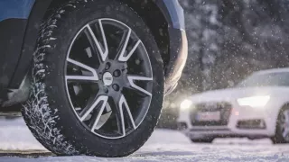
[[[170,60],[164,69],[165,90],[170,94],[182,76],[182,69],[188,57],[188,40],[185,33],[184,13],[178,0],[159,0],[156,4],[167,20],[170,39]]]

